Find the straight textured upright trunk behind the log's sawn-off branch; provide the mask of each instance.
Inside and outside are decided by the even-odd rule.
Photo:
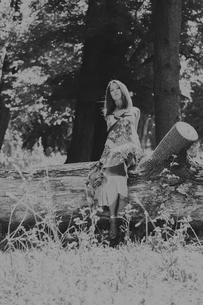
[[[156,145],[179,120],[181,0],[152,0]]]

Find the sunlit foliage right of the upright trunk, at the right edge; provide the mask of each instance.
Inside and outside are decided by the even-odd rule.
[[[182,119],[195,128],[200,142],[203,139],[201,128],[202,107],[202,28],[203,28],[203,10],[202,2],[182,1],[182,35],[180,44],[180,54],[182,55],[181,72],[181,91]]]

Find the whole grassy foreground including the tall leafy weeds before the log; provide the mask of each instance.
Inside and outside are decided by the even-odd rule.
[[[125,245],[111,248],[105,232],[94,235],[95,211],[90,213],[92,226],[75,220],[75,234],[67,232],[55,241],[44,224],[57,226],[53,215],[26,231],[1,236],[0,304],[3,305],[197,305],[203,299],[203,249],[197,242],[186,243],[189,221],[184,220],[172,232],[165,207],[159,217],[166,226],[155,236],[139,241],[129,239],[128,206]],[[147,217],[147,214],[146,214]],[[79,230],[77,223],[82,228]],[[44,229],[43,229],[44,228]],[[159,229],[159,230],[158,230]],[[19,231],[21,233],[19,234]],[[160,236],[168,234],[165,240]],[[167,236],[167,234],[166,234]],[[146,242],[147,238],[147,242]]]

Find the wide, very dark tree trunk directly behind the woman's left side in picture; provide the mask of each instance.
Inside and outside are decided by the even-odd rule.
[[[114,21],[117,10],[122,11],[119,22]],[[96,102],[104,100],[108,82],[120,78],[120,71],[126,61],[129,37],[120,33],[128,29],[127,14],[125,4],[118,3],[117,0],[89,2],[89,36],[84,43],[74,129],[65,163],[96,160],[103,152],[106,122],[99,109],[103,104]],[[95,33],[95,22],[98,19],[100,26]],[[120,80],[122,81],[121,78]]]

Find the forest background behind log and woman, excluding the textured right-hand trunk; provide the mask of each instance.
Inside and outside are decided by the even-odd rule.
[[[153,0],[2,0],[0,14],[0,168],[98,160],[111,79],[141,110],[142,148],[156,147]],[[182,0],[177,120],[198,133],[193,157],[203,141],[202,35],[202,1]]]

